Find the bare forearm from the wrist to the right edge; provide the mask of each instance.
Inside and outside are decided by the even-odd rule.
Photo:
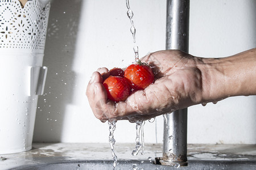
[[[202,100],[256,95],[256,48],[225,58],[200,59]]]

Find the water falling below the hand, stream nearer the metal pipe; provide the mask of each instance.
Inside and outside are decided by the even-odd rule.
[[[137,130],[137,136],[135,139],[136,145],[131,153],[131,155],[138,155],[139,151],[142,149],[141,154],[144,155],[144,124],[145,121],[137,121],[136,122],[136,130]]]

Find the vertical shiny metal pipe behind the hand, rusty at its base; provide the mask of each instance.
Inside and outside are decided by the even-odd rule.
[[[188,53],[189,0],[167,0],[166,49]],[[160,164],[187,165],[187,108],[167,114]]]

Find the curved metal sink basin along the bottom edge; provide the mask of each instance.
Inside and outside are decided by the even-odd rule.
[[[186,167],[174,167],[166,165],[156,165],[148,160],[119,160],[115,169],[256,169],[256,163],[247,160],[189,160]],[[63,170],[63,169],[113,169],[112,160],[89,160],[89,161],[63,161],[59,163],[46,163],[38,165],[28,165],[19,170]]]

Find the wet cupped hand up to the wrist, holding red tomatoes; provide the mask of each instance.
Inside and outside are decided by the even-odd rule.
[[[180,50],[162,50],[141,59],[154,71],[155,83],[133,92],[126,101],[108,100],[103,81],[108,69],[93,73],[86,95],[94,115],[102,122],[110,119],[147,120],[164,113],[201,103],[202,76],[197,67],[200,58]]]

